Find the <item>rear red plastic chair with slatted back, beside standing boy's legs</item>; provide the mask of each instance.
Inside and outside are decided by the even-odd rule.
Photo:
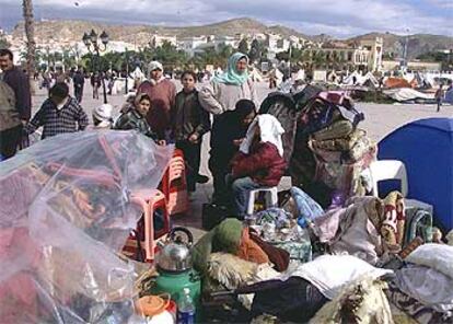
[[[184,153],[175,150],[169,167],[162,178],[160,189],[164,193],[167,201],[169,213],[185,213],[189,209],[187,193],[186,165]]]

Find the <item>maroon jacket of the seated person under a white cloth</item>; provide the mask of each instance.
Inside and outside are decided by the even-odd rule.
[[[277,186],[287,169],[275,144],[259,142],[251,148],[248,154],[239,152],[231,162],[234,177],[252,177],[262,186]]]

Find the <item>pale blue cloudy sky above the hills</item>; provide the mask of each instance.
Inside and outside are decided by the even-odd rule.
[[[35,19],[200,25],[253,18],[307,34],[346,38],[370,32],[453,36],[453,0],[34,0]],[[0,26],[22,19],[22,0],[0,0]]]

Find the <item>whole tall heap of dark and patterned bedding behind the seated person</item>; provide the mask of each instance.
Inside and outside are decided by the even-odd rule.
[[[358,128],[364,116],[350,97],[307,85],[295,94],[269,94],[263,112],[283,125],[284,158],[294,185],[323,207],[362,194],[360,174],[375,159],[376,144]]]

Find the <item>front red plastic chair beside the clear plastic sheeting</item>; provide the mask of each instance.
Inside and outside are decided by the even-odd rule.
[[[140,262],[152,262],[158,252],[158,242],[170,231],[170,215],[165,195],[158,189],[140,190],[132,194],[132,202],[143,210],[137,229],[130,234],[123,253]],[[155,213],[163,215],[163,228],[154,229]]]

